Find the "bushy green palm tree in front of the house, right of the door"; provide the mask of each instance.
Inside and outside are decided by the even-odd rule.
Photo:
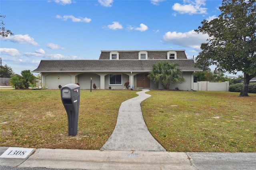
[[[182,83],[185,79],[182,77],[182,71],[178,68],[177,63],[160,61],[153,65],[148,77],[154,83],[161,82],[165,89],[169,90],[170,83]]]

